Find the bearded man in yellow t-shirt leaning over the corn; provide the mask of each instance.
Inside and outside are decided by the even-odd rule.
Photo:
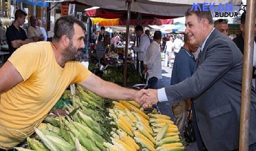
[[[140,103],[149,95],[147,90],[103,81],[73,61],[77,50],[84,47],[84,29],[78,19],[60,17],[52,43],[21,46],[0,68],[0,150],[11,149],[30,136],[70,83],[110,99]]]

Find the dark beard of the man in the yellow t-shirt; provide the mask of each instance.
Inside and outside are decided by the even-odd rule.
[[[73,46],[72,40],[70,40],[69,46],[62,52],[62,61],[79,61],[77,50],[78,48]]]

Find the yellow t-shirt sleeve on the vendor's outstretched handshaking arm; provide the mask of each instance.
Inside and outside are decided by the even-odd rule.
[[[71,84],[81,83],[91,75],[91,72],[80,62],[75,63],[75,68],[76,68],[76,76],[73,79],[73,81],[71,81]]]

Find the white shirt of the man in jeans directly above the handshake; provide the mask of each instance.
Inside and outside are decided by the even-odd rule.
[[[144,64],[146,64],[148,68],[148,79],[150,79],[151,77],[157,77],[157,79],[162,79],[160,45],[156,41],[153,41],[147,48],[147,53],[144,58]]]

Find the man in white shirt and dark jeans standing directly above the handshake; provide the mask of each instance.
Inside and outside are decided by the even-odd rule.
[[[162,79],[162,68],[161,68],[161,43],[162,33],[161,31],[155,31],[153,42],[147,48],[147,54],[144,58],[144,71],[149,73],[148,76],[148,88],[157,89],[158,79]]]

